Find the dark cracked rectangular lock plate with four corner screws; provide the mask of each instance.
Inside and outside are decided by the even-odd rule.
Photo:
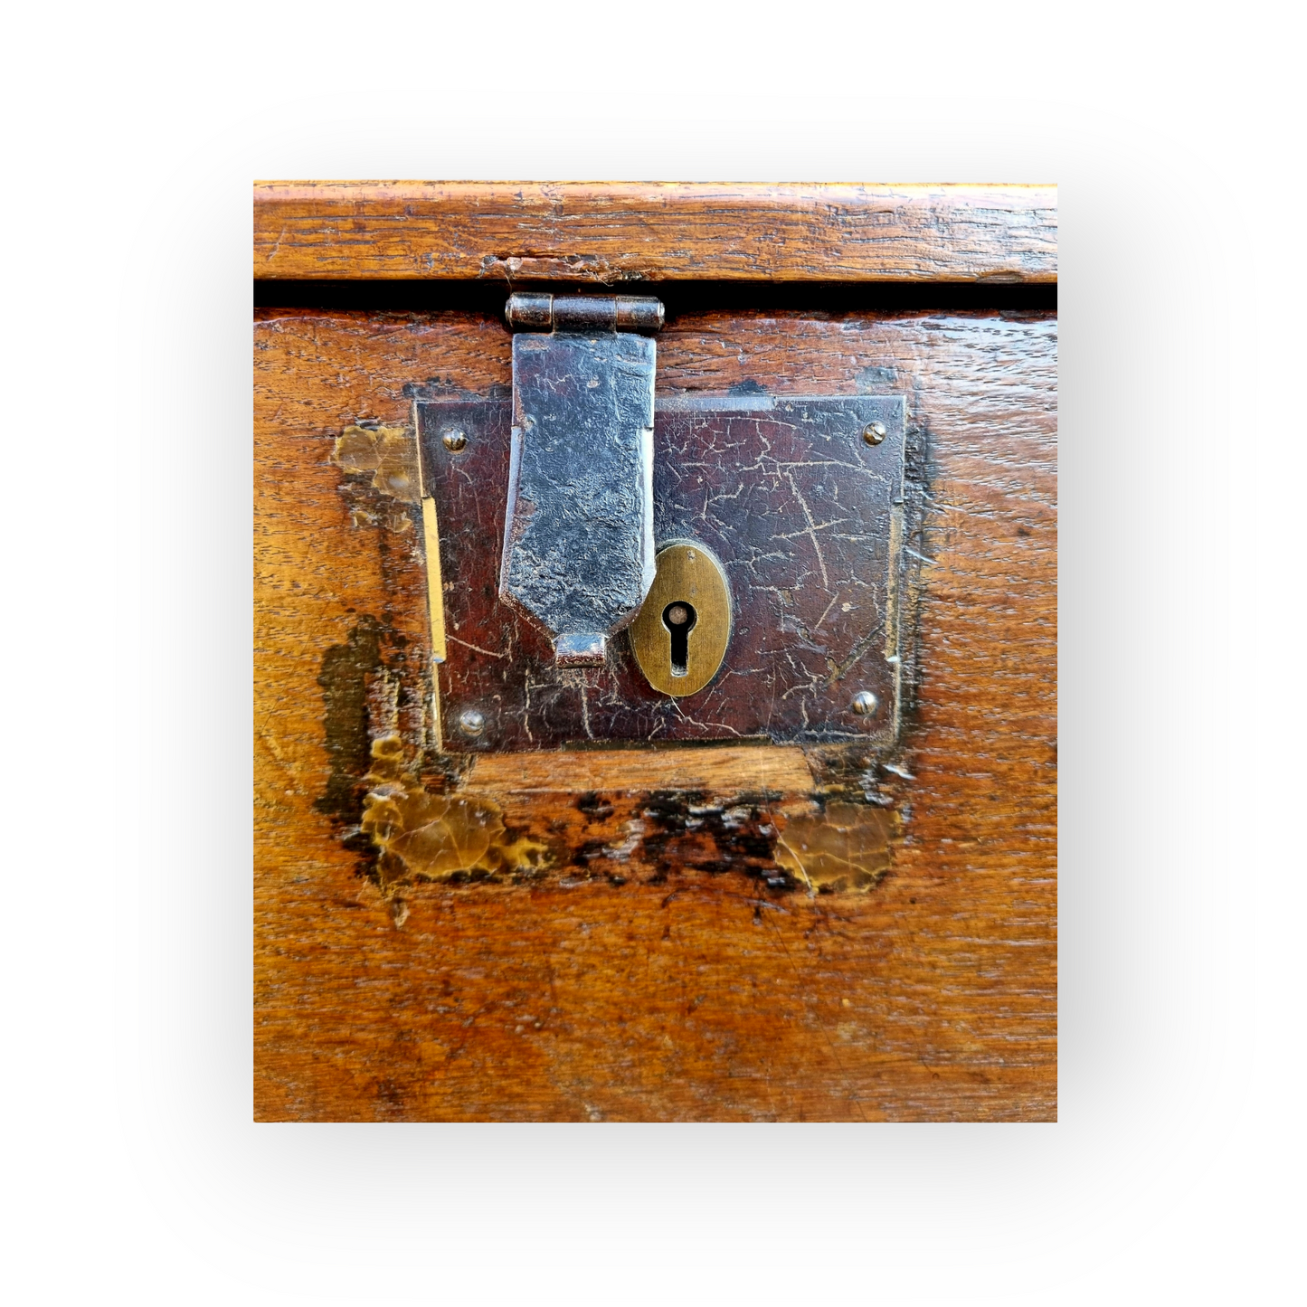
[[[418,401],[426,494],[440,538],[447,660],[438,669],[446,749],[565,744],[894,740],[899,704],[902,396],[660,400],[655,540],[698,540],[725,567],[735,609],[716,678],[673,699],[640,674],[625,633],[601,668],[563,670],[525,616],[501,603],[508,488],[507,399]],[[878,422],[878,444],[863,433]],[[446,447],[460,431],[465,443]],[[450,442],[459,446],[457,440]],[[853,697],[877,710],[860,716]],[[456,723],[474,708],[482,733]]]

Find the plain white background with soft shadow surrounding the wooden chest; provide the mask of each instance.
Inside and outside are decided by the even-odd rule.
[[[1287,8],[5,31],[9,1302],[1302,1293]],[[255,176],[1060,184],[1057,1125],[250,1124]]]

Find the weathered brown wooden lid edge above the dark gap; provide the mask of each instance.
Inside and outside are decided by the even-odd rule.
[[[256,182],[254,276],[1055,284],[1057,188]]]

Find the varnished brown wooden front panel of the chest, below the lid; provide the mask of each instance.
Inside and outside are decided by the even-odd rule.
[[[430,732],[421,520],[331,451],[359,420],[410,422],[406,386],[484,392],[508,358],[489,316],[256,324],[256,1117],[1053,1119],[1056,320],[749,312],[660,340],[667,391],[908,396],[921,678],[904,775],[876,778],[891,806],[861,809],[893,816],[873,889],[774,889],[766,840],[711,816],[761,788],[746,825],[793,831],[843,783],[819,754],[758,749],[762,786],[712,749],[689,750],[701,772],[518,755],[429,783],[571,861],[413,884],[396,925],[342,813],[370,737],[417,757]]]

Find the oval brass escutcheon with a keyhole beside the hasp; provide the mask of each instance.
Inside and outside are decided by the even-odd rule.
[[[698,694],[731,643],[731,587],[721,563],[697,541],[665,545],[630,638],[635,661],[661,694]]]

